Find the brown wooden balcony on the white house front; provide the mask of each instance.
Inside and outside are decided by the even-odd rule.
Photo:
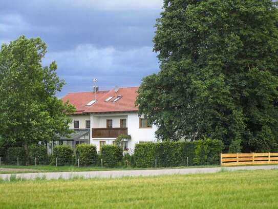
[[[117,138],[120,134],[127,135],[127,128],[92,128],[92,138]]]

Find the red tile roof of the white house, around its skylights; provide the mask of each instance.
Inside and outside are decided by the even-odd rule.
[[[62,98],[63,102],[69,102],[76,107],[75,114],[89,112],[122,112],[122,111],[137,111],[135,106],[137,90],[139,87],[119,88],[118,92],[114,89],[110,91],[98,91],[96,93],[97,101],[91,106],[86,106],[92,101],[95,96],[93,92],[75,92],[68,93]],[[117,102],[112,102],[117,96],[121,96]],[[105,101],[107,98],[113,97],[110,101]]]

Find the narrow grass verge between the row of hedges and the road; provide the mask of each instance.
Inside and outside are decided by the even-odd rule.
[[[173,167],[173,168],[190,168],[190,167],[219,167],[219,165],[206,165],[206,166],[189,166],[189,167]],[[1,168],[13,168],[18,170],[1,171]],[[167,167],[167,169],[170,167]],[[25,170],[31,169],[31,170]],[[0,165],[0,174],[18,174],[18,173],[46,173],[46,172],[82,172],[82,171],[97,171],[97,170],[131,170],[131,169],[155,169],[155,168],[133,168],[133,167],[117,167],[117,168],[101,168],[99,166],[53,166],[53,165]],[[158,167],[157,169],[165,169]]]

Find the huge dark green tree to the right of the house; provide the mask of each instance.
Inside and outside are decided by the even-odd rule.
[[[275,3],[164,0],[163,8],[154,37],[161,70],[143,79],[137,99],[157,136],[277,151]]]

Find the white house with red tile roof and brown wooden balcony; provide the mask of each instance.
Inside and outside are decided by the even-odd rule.
[[[139,118],[135,106],[139,87],[116,88],[109,91],[68,93],[62,98],[76,107],[70,128],[75,132],[70,137],[62,137],[60,144],[75,147],[78,143],[95,144],[101,150],[104,144],[113,144],[120,135],[130,135],[122,147],[133,152],[136,143],[154,142],[157,127],[146,119]]]

